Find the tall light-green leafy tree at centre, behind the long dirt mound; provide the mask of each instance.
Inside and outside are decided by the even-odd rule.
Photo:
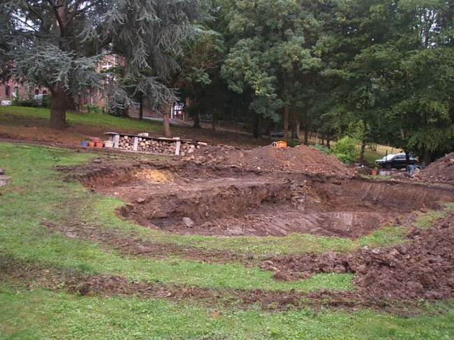
[[[234,1],[229,29],[237,43],[223,66],[234,91],[251,91],[250,109],[257,117],[284,118],[288,139],[290,106],[307,70],[318,68],[314,40],[308,32],[318,25],[309,1]],[[258,137],[258,129],[255,131]]]

